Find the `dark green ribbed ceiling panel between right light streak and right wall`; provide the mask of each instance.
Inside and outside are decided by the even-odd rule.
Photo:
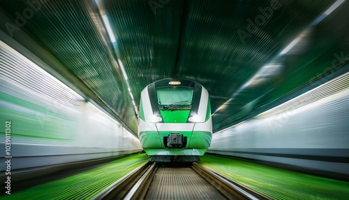
[[[318,15],[329,6],[331,4]],[[265,83],[245,87],[233,94],[233,98],[226,103],[225,109],[220,110],[216,117],[213,117],[214,129],[218,131],[221,127],[227,127],[227,124],[234,124],[239,118],[264,108],[286,94],[301,90],[314,80],[348,63],[349,57],[346,57],[348,55],[346,52],[349,52],[349,27],[339,22],[349,20],[346,14],[348,8],[349,4],[345,2],[319,24],[309,25],[312,22],[308,22],[308,26],[304,27],[307,30],[306,34],[295,46],[295,50],[274,58],[274,63],[280,65],[279,73]],[[315,15],[313,20],[318,15]],[[302,29],[298,32],[300,31]],[[332,31],[335,34],[332,34]],[[292,39],[288,40],[288,43],[290,41]],[[327,80],[323,80],[324,83]],[[244,103],[239,104],[239,102]]]

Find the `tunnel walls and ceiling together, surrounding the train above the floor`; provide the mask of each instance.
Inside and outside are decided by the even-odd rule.
[[[142,151],[142,90],[184,78],[209,94],[210,156],[347,184],[348,9],[345,0],[0,1],[1,178],[8,160],[22,181]]]

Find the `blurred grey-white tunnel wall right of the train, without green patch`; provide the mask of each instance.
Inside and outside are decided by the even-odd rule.
[[[262,113],[214,134],[207,152],[341,173],[348,177],[348,80],[336,83],[346,88],[327,85],[332,94],[318,99],[316,95],[330,93],[325,91],[325,86],[319,87],[308,95],[308,99],[283,105],[283,112]],[[301,105],[306,101],[311,103]],[[290,110],[292,107],[297,108]]]

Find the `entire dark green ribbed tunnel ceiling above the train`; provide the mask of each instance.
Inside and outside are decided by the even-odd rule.
[[[214,131],[348,62],[348,1],[318,23],[335,1],[98,2],[99,9],[95,1],[40,1],[22,29],[134,132],[137,118],[117,59],[136,104],[155,80],[202,84],[210,94]],[[13,20],[31,8],[27,1],[0,3]],[[299,34],[295,48],[280,54]]]

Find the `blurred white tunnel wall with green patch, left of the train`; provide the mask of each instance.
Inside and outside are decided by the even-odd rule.
[[[6,44],[0,48],[1,164],[10,156],[12,170],[27,169],[142,149],[112,117]],[[5,155],[6,122],[10,155]]]

